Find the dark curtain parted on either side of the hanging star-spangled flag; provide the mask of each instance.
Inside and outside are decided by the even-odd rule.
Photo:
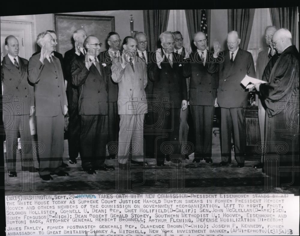
[[[207,22],[207,38],[209,44],[210,38],[210,9],[205,9],[206,11],[206,22]],[[187,19],[187,30],[190,36],[190,42],[192,49],[194,49],[193,37],[196,32],[201,31],[201,9],[197,10],[185,10],[185,16]],[[209,47],[209,45],[208,45]]]

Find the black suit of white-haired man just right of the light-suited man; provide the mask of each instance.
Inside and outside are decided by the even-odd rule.
[[[164,55],[163,51],[162,53]],[[187,84],[184,77],[186,63],[182,56],[175,52],[172,53],[172,58],[172,66],[165,55],[160,65],[161,68],[157,63],[153,63],[149,71],[150,80],[153,81],[152,93],[158,97],[158,101],[153,103],[155,110],[153,123],[157,134],[155,152],[158,163],[164,161],[164,154],[181,154],[179,150],[179,119],[182,100],[187,100]],[[165,146],[167,142],[173,146],[173,153],[163,151],[164,147],[161,145],[164,143]]]

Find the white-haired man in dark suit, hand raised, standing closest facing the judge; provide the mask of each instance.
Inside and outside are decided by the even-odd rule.
[[[219,73],[217,102],[221,107],[221,152],[220,166],[231,160],[232,128],[235,144],[235,158],[238,168],[244,167],[246,148],[245,111],[248,91],[240,82],[248,75],[255,77],[253,58],[250,52],[239,48],[241,39],[236,31],[227,34],[228,51],[219,53],[221,46],[214,40],[214,63],[208,64],[209,73]],[[218,57],[219,54],[219,57]],[[223,54],[223,55],[222,55]]]

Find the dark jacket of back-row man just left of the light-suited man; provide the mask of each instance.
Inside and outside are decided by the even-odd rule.
[[[111,78],[111,67],[113,64],[113,59],[108,54],[108,50],[101,52],[99,55],[99,60],[101,63],[105,63],[108,71],[108,99],[109,102],[116,102],[118,100],[118,84],[113,82]]]

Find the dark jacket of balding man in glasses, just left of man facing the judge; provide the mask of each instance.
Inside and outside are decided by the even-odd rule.
[[[207,71],[213,55],[207,52],[205,66],[200,62],[198,55],[197,51],[191,53],[185,75],[190,77],[190,105],[214,106],[217,97],[218,73]]]

